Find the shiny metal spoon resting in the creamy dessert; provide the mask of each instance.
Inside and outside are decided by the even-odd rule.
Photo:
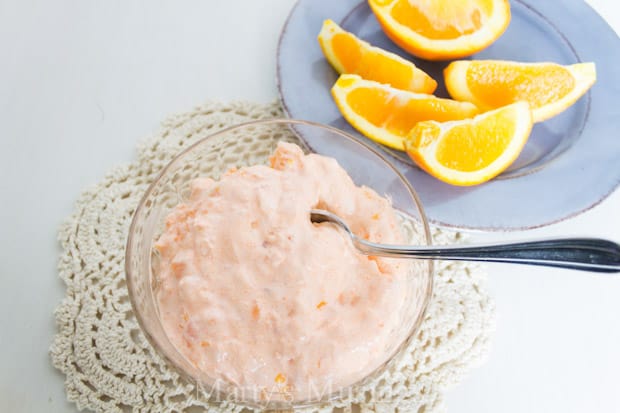
[[[598,238],[564,238],[472,246],[385,245],[357,237],[335,214],[310,211],[314,223],[330,222],[344,229],[363,254],[392,258],[507,262],[582,271],[620,272],[620,245]]]

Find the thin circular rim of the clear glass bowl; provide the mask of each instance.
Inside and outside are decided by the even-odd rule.
[[[204,144],[204,142],[206,142],[207,140],[216,138],[218,136],[230,133],[231,131],[234,131],[236,129],[242,129],[242,128],[246,128],[246,127],[251,127],[251,126],[261,126],[261,125],[289,125],[291,126],[291,129],[293,131],[293,133],[297,136],[297,138],[299,139],[301,145],[308,151],[312,152],[312,153],[317,153],[312,147],[310,147],[306,141],[300,136],[301,134],[295,130],[294,125],[300,125],[300,126],[310,126],[310,127],[314,127],[314,128],[319,128],[319,129],[323,129],[323,130],[327,130],[329,132],[335,133],[336,135],[341,136],[342,138],[350,141],[351,143],[353,143],[354,145],[359,145],[362,146],[363,148],[367,149],[368,151],[370,151],[371,153],[373,153],[374,155],[376,155],[381,161],[383,161],[383,163],[389,167],[392,172],[394,172],[394,174],[396,176],[398,176],[398,178],[400,179],[400,181],[404,184],[405,188],[407,189],[409,195],[411,196],[411,198],[414,200],[415,206],[418,210],[418,213],[420,214],[419,217],[419,221],[422,224],[422,228],[423,228],[423,234],[424,234],[424,238],[426,241],[426,245],[432,245],[432,235],[430,232],[430,226],[428,223],[428,218],[426,216],[426,213],[424,211],[424,207],[422,206],[422,202],[420,200],[420,197],[418,196],[417,192],[415,191],[415,189],[411,186],[411,184],[409,183],[409,181],[403,176],[403,174],[393,165],[392,162],[390,162],[387,157],[385,155],[383,155],[382,153],[380,153],[378,150],[376,150],[375,148],[373,148],[372,146],[368,145],[365,142],[362,142],[356,138],[354,138],[352,135],[348,134],[345,131],[342,131],[338,128],[335,128],[333,126],[330,125],[325,125],[325,124],[321,124],[318,122],[312,122],[312,121],[307,121],[307,120],[301,120],[301,119],[289,119],[289,118],[272,118],[272,119],[259,119],[259,120],[253,120],[253,121],[248,121],[248,122],[242,122],[242,123],[238,123],[226,128],[223,128],[215,133],[212,133],[202,139],[199,139],[198,141],[194,142],[193,144],[191,144],[190,146],[188,146],[187,148],[183,149],[182,151],[180,151],[179,153],[177,153],[171,160],[170,162],[168,162],[166,164],[166,166],[164,166],[162,168],[162,170],[157,174],[157,176],[153,179],[153,181],[149,184],[148,188],[146,189],[146,191],[144,192],[144,195],[141,197],[140,201],[138,202],[138,205],[136,206],[136,209],[132,215],[131,218],[131,224],[129,226],[129,230],[127,233],[127,242],[126,242],[126,247],[125,247],[125,280],[127,283],[127,290],[128,290],[128,296],[129,296],[129,301],[131,302],[131,307],[132,307],[132,311],[134,313],[134,316],[136,317],[136,320],[138,321],[138,325],[140,327],[140,331],[145,335],[145,337],[147,338],[147,341],[149,342],[149,344],[155,349],[155,351],[157,352],[157,354],[162,357],[165,361],[166,364],[170,367],[172,367],[180,376],[182,376],[183,378],[185,378],[187,381],[189,381],[190,383],[193,383],[196,385],[196,389],[200,389],[202,391],[205,390],[205,386],[206,387],[211,387],[208,386],[205,383],[202,383],[198,378],[193,377],[190,373],[188,373],[182,366],[178,365],[176,362],[174,362],[173,360],[171,360],[168,355],[166,354],[166,352],[161,348],[160,344],[152,337],[151,333],[149,332],[148,328],[146,327],[146,321],[143,317],[143,314],[141,313],[141,311],[138,311],[138,304],[135,301],[135,296],[136,296],[136,292],[135,292],[135,286],[133,284],[132,281],[132,277],[130,277],[130,273],[132,273],[132,270],[130,268],[130,263],[131,263],[131,250],[132,250],[132,246],[134,243],[134,233],[135,233],[135,229],[136,229],[136,217],[139,215],[139,212],[141,212],[144,208],[146,208],[145,204],[147,199],[152,195],[153,191],[155,190],[156,186],[158,185],[158,183],[160,182],[160,180],[166,175],[166,173],[170,170],[170,168],[173,167],[173,165],[175,165],[175,163],[183,158],[185,155],[187,155],[189,152],[193,151],[195,148],[197,148],[198,146]],[[329,156],[328,154],[324,154],[323,156]],[[346,169],[345,169],[346,170]],[[401,213],[403,213],[405,216],[409,217],[408,214],[405,214],[403,211],[400,211]],[[308,400],[300,400],[300,401],[292,401],[292,402],[287,402],[287,401],[272,401],[269,400],[266,403],[265,402],[260,402],[258,400],[247,400],[247,399],[233,399],[233,400],[229,400],[227,398],[228,394],[223,393],[216,389],[216,388],[209,388],[208,389],[208,394],[209,396],[213,396],[214,394],[218,395],[219,397],[221,397],[218,400],[229,400],[239,406],[244,406],[244,407],[249,407],[249,408],[260,408],[260,409],[267,409],[267,410],[279,410],[279,409],[291,409],[291,408],[307,408],[307,407],[313,407],[313,406],[318,406],[320,404],[324,404],[324,403],[329,403],[335,400],[339,400],[342,399],[342,397],[340,397],[340,395],[342,394],[343,390],[346,392],[346,394],[351,394],[351,392],[353,392],[355,389],[359,389],[364,387],[366,384],[368,384],[369,382],[373,381],[374,379],[376,379],[379,375],[381,375],[384,371],[386,371],[390,365],[394,362],[394,360],[397,358],[398,355],[400,355],[402,353],[402,351],[407,348],[411,341],[413,340],[413,338],[415,337],[415,335],[419,332],[420,330],[420,326],[422,325],[422,321],[424,320],[426,313],[428,311],[428,307],[433,295],[433,278],[434,278],[434,261],[433,260],[426,260],[425,263],[428,266],[428,277],[427,277],[427,285],[426,285],[426,293],[424,294],[423,297],[423,303],[422,303],[422,309],[419,312],[416,320],[414,321],[412,327],[409,329],[409,332],[407,334],[407,338],[405,340],[403,340],[402,343],[400,343],[400,345],[398,345],[390,354],[390,356],[388,357],[388,359],[383,362],[382,364],[380,364],[379,366],[377,366],[374,370],[372,370],[370,373],[368,373],[367,375],[365,375],[363,378],[361,378],[360,380],[344,386],[342,388],[337,389],[336,391],[333,391],[332,393],[329,393],[327,395],[321,396],[319,398],[315,398],[315,399],[308,399]],[[154,303],[156,304],[156,303]],[[162,327],[163,328],[163,327]],[[167,337],[166,337],[167,339]],[[176,349],[176,347],[174,345],[171,344],[171,348],[177,353],[177,355],[179,355],[182,359],[184,359],[185,357]]]

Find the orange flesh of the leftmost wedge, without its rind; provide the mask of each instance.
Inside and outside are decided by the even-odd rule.
[[[375,51],[362,48],[349,33],[337,33],[332,38],[332,49],[346,73],[355,73],[364,79],[388,83],[397,89],[409,89],[413,70],[403,62]]]

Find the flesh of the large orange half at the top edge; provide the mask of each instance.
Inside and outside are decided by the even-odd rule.
[[[492,0],[469,2],[396,0],[393,2],[390,14],[398,23],[424,37],[449,40],[479,30],[492,12]]]

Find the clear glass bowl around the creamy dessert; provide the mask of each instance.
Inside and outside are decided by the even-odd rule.
[[[148,188],[135,212],[127,241],[125,269],[129,297],[143,333],[151,345],[186,379],[214,400],[233,401],[262,409],[307,407],[346,397],[388,368],[390,361],[403,351],[416,334],[432,291],[432,261],[412,261],[409,299],[402,308],[402,324],[394,331],[393,343],[384,360],[360,380],[343,388],[307,392],[307,397],[286,394],[259,395],[240,391],[233,383],[216,379],[194,367],[168,339],[159,318],[155,293],[158,288],[157,255],[153,244],[162,232],[165,217],[188,194],[189,183],[196,177],[219,179],[232,167],[267,163],[279,140],[310,138],[313,148],[307,152],[335,158],[357,185],[366,185],[392,200],[404,217],[403,230],[413,241],[429,245],[430,232],[419,198],[407,180],[377,151],[338,129],[291,119],[244,123],[200,140],[181,152]],[[302,144],[303,146],[303,144]],[[241,297],[240,297],[241,299]],[[369,333],[371,334],[371,333]]]

